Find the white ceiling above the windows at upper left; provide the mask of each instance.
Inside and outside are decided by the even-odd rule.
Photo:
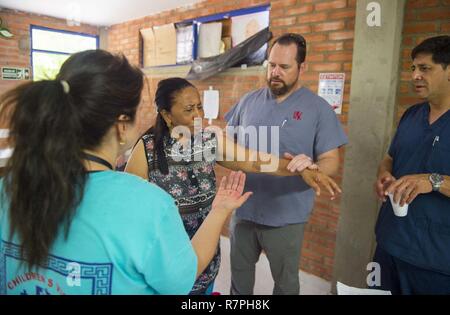
[[[200,0],[0,0],[0,7],[109,26],[197,2]]]

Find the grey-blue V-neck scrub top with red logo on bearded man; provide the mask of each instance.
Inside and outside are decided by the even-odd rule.
[[[305,87],[281,103],[276,102],[268,88],[250,92],[225,119],[228,127],[241,127],[235,128],[241,145],[281,157],[289,152],[316,160],[322,153],[348,142],[331,106]],[[248,136],[252,132],[256,132],[257,141]],[[278,147],[274,145],[277,143]],[[252,191],[253,195],[236,211],[236,216],[268,226],[306,222],[314,204],[314,191],[300,176],[247,174],[245,191]]]

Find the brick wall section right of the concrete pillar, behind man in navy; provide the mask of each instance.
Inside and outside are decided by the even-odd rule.
[[[402,40],[402,68],[397,98],[397,119],[421,100],[411,86],[411,51],[422,40],[450,34],[450,0],[408,0]]]

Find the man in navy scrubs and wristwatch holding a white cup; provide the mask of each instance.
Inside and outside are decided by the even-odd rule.
[[[404,113],[379,167],[377,288],[450,294],[450,36],[424,40],[411,57],[414,90],[424,102]],[[390,193],[409,205],[405,217],[394,214]]]

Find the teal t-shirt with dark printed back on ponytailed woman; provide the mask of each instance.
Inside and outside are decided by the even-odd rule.
[[[0,181],[3,191],[3,180]],[[90,173],[68,238],[28,271],[0,203],[0,294],[187,294],[197,257],[173,199],[134,175]]]

